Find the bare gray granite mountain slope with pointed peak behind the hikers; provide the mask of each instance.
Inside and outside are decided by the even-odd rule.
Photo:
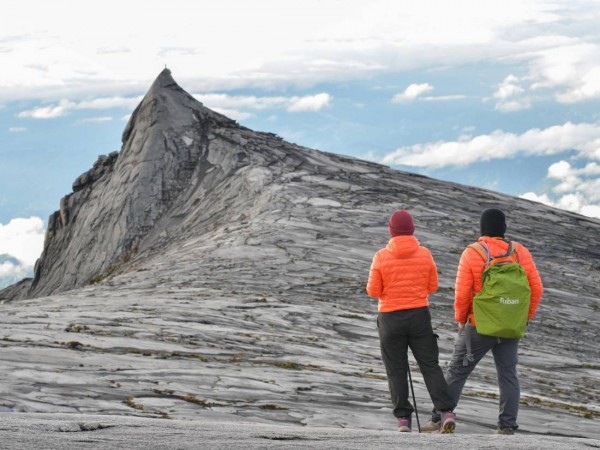
[[[123,142],[51,217],[33,284],[0,294],[6,410],[393,428],[364,292],[387,219],[409,209],[438,264],[444,363],[456,265],[495,206],[546,287],[521,346],[521,430],[600,437],[598,220],[254,132],[168,71]],[[497,396],[486,358],[458,432],[493,429]]]

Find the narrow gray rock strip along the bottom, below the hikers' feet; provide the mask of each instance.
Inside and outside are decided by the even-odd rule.
[[[356,428],[179,421],[68,414],[0,414],[0,448],[77,449],[528,449],[600,447],[595,439],[552,436],[399,434]]]

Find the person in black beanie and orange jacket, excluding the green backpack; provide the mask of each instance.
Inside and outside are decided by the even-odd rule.
[[[484,210],[480,217],[480,230],[481,237],[478,242],[487,246],[491,256],[495,257],[507,252],[509,242],[504,240],[506,217],[501,210],[495,208]],[[516,257],[525,270],[531,289],[528,314],[529,320],[531,320],[535,316],[542,297],[542,280],[529,250],[520,243],[515,244]],[[496,434],[514,434],[518,428],[517,414],[521,395],[517,373],[517,352],[520,340],[477,333],[473,317],[473,297],[482,289],[484,266],[484,259],[475,249],[467,247],[463,251],[458,264],[454,296],[454,319],[458,323],[459,331],[445,378],[452,398],[458,403],[467,377],[481,358],[491,350],[500,388],[500,411]],[[467,339],[470,340],[470,354],[468,354]],[[440,429],[440,423],[440,416],[434,409],[431,420],[422,427],[422,430],[424,432],[437,431]]]

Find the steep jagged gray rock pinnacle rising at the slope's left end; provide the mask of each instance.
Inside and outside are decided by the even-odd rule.
[[[234,151],[214,156],[212,149],[224,149],[217,136],[231,141],[238,128],[162,70],[132,113],[121,151],[101,155],[50,216],[27,296],[83,286],[129,259],[213,160],[237,164]]]

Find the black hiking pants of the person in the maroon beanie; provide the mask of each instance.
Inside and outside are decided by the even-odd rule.
[[[437,338],[431,327],[429,308],[379,313],[377,327],[394,416],[406,417],[414,411],[408,400],[408,348],[419,364],[435,409],[453,410],[456,403],[439,365]]]

